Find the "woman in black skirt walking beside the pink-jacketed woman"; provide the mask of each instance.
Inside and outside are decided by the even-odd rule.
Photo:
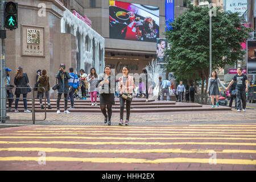
[[[111,125],[111,117],[112,117],[112,105],[115,104],[115,79],[111,82],[110,77],[110,65],[106,65],[104,68],[104,77],[101,77],[98,80],[98,84],[100,84],[100,107],[101,112],[104,115],[104,123],[108,122],[108,125]],[[108,115],[106,114],[106,106],[108,107]]]

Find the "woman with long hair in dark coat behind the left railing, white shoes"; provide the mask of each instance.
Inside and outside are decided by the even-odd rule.
[[[18,67],[15,77],[14,77],[14,84],[16,85],[15,89],[15,110],[14,113],[18,113],[18,102],[19,102],[19,97],[20,94],[23,96],[23,105],[24,105],[24,113],[31,113],[30,110],[27,109],[27,84],[28,84],[28,77],[27,73],[23,73],[23,68]]]

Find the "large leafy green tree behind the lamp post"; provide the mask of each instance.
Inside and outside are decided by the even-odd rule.
[[[251,28],[241,24],[238,13],[222,12],[216,7],[217,16],[212,17],[212,68],[224,68],[242,60],[245,51],[241,43],[249,38]],[[209,77],[209,8],[188,6],[179,15],[165,35],[170,49],[167,49],[167,70],[175,75],[198,75],[202,80]]]

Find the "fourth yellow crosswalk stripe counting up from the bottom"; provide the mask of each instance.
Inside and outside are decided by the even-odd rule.
[[[256,138],[205,138],[205,137],[148,137],[148,138],[141,138],[141,137],[26,137],[26,136],[21,136],[21,137],[0,137],[0,138],[46,138],[46,139],[61,139],[61,138],[66,138],[66,139],[115,139],[115,140],[149,140],[149,139],[159,139],[159,140],[176,140],[176,139],[207,139],[207,140],[212,140],[212,139],[219,139],[219,140],[256,140]]]

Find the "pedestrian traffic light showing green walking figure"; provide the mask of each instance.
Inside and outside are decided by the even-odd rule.
[[[18,28],[18,3],[16,2],[5,2],[5,27]]]

